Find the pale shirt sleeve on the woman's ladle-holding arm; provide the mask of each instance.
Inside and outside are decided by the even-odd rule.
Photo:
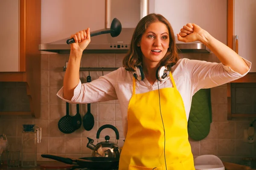
[[[57,96],[69,103],[93,103],[116,100],[115,85],[117,72],[118,70],[112,71],[88,83],[81,83],[81,80],[79,80],[71,100],[63,98],[63,87],[58,91]]]

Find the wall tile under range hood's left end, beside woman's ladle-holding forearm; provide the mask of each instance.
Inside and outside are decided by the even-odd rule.
[[[49,57],[49,70],[63,71],[67,56],[69,56],[69,54],[52,54],[51,57]]]

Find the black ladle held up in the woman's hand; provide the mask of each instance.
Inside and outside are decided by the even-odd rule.
[[[121,25],[120,21],[117,18],[114,18],[112,20],[110,29],[104,30],[104,31],[98,31],[98,32],[95,32],[95,33],[91,33],[90,36],[93,37],[93,36],[96,36],[96,35],[110,33],[111,37],[117,37],[117,36],[119,36],[121,31],[122,31],[122,25]],[[71,39],[67,40],[67,44],[72,44],[74,42],[75,42],[74,38],[71,38]]]

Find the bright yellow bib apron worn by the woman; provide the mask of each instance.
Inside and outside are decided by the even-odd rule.
[[[135,94],[133,79],[119,170],[195,170],[183,100],[171,73],[170,78],[173,88],[143,94]]]

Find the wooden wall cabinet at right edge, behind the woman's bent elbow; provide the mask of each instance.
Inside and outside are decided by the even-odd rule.
[[[241,57],[252,62],[250,72],[233,82],[227,83],[227,119],[232,117],[256,117],[256,114],[232,113],[231,83],[256,82],[256,0],[227,0],[227,46],[232,48]],[[238,40],[236,40],[236,35]],[[233,87],[235,87],[233,85]]]

